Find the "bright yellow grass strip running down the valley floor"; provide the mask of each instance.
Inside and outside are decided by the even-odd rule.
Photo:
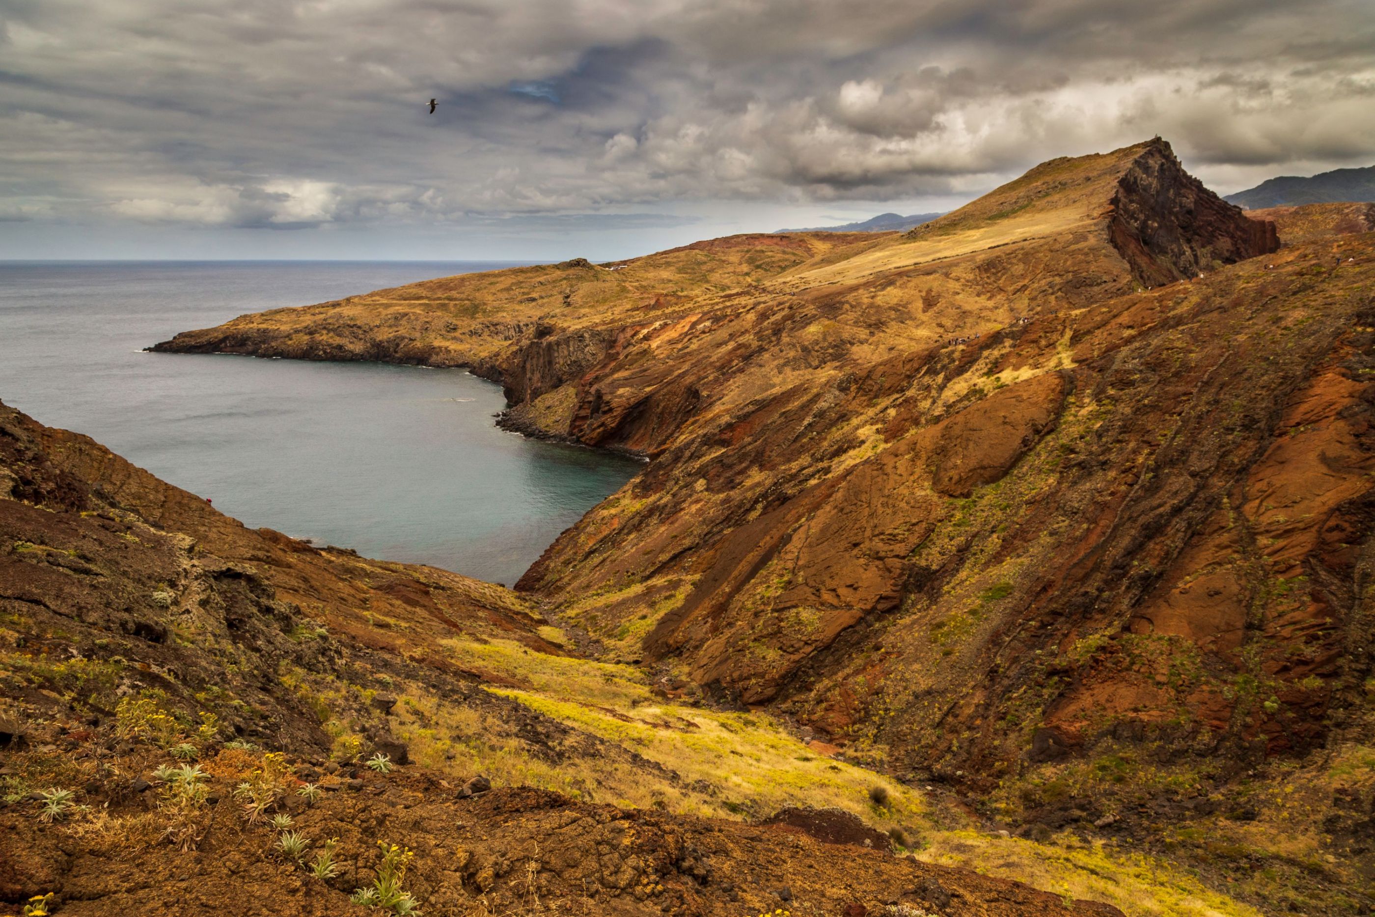
[[[488,686],[492,694],[663,769],[600,755],[546,763],[521,741],[505,737],[500,723],[485,714],[406,686],[397,714],[412,758],[455,780],[484,773],[498,785],[525,784],[591,802],[730,819],[764,817],[784,806],[835,807],[883,830],[902,829],[917,857],[928,862],[1107,902],[1132,917],[1258,914],[1156,858],[1071,835],[1035,843],[967,824],[952,826],[952,819],[964,819],[934,810],[918,789],[820,755],[769,715],[667,703],[652,693],[645,672],[631,665],[547,656],[500,639],[452,639],[443,648],[459,664],[520,685]],[[1341,764],[1364,773],[1365,758],[1353,752]],[[887,807],[870,802],[873,786],[888,791]]]

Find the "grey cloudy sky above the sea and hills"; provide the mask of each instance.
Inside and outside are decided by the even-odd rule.
[[[608,260],[1156,133],[1375,164],[1375,3],[0,0],[0,258]]]

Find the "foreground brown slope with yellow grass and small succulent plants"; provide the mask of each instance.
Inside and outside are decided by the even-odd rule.
[[[245,529],[3,406],[0,544],[4,913],[377,913],[349,895],[378,841],[430,914],[1253,913],[569,656],[506,590]]]

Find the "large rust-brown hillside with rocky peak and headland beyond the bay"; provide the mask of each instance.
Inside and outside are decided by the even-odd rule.
[[[1357,913],[1375,242],[1286,220],[1279,249],[1156,140],[903,235],[436,280],[158,346],[468,362],[509,426],[652,459],[518,586],[586,652],[1012,832]],[[441,322],[441,291],[485,298]]]

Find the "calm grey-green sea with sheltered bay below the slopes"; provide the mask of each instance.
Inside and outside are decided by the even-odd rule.
[[[462,370],[143,353],[177,331],[490,263],[4,263],[0,400],[250,527],[512,584],[637,462],[498,430]]]

